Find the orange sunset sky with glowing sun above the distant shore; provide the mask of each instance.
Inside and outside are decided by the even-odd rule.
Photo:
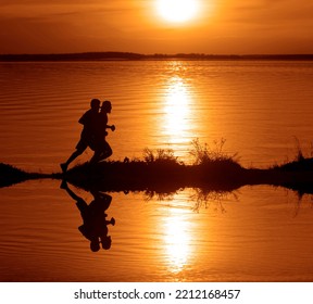
[[[313,53],[311,0],[178,1],[0,0],[0,53]]]

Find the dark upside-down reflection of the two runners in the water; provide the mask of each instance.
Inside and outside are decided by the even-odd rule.
[[[90,249],[93,252],[102,249],[109,250],[111,248],[111,237],[108,236],[108,225],[115,225],[115,219],[107,220],[105,211],[109,208],[112,197],[105,193],[91,191],[93,201],[88,205],[80,197],[76,195],[67,186],[66,181],[62,181],[61,189],[66,190],[72,199],[76,201],[76,205],[80,211],[84,224],[78,227],[83,236],[90,241]]]

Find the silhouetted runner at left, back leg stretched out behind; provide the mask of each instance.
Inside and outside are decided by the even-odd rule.
[[[80,139],[76,144],[76,150],[73,152],[73,154],[68,157],[68,160],[65,163],[60,164],[63,173],[67,170],[68,165],[76,157],[83,154],[83,152],[87,149],[87,147],[95,145],[95,135],[96,135],[95,128],[97,127],[95,122],[98,121],[99,109],[100,109],[100,100],[92,99],[90,102],[90,109],[79,118],[78,123],[82,124],[84,128],[80,134]]]

